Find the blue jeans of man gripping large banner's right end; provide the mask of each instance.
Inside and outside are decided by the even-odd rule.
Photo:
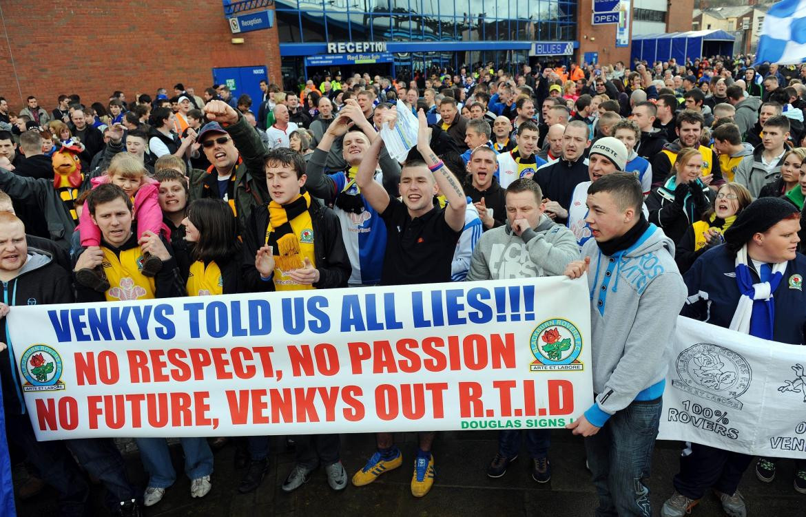
[[[588,466],[599,494],[595,515],[652,515],[646,480],[662,404],[660,398],[636,400],[585,438]]]

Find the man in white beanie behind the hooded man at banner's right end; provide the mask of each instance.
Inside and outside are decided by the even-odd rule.
[[[583,181],[576,185],[571,194],[571,203],[564,214],[567,219],[568,228],[574,232],[577,244],[582,245],[591,238],[591,230],[585,222],[588,217],[588,205],[585,200],[588,197],[588,187],[600,177],[611,172],[623,171],[627,166],[627,147],[621,141],[612,136],[596,140],[591,146],[588,155],[588,176],[589,181]]]

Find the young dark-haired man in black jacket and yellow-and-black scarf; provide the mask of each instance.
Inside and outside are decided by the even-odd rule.
[[[216,120],[230,122],[238,114],[228,106]],[[339,219],[305,190],[305,159],[289,148],[268,151],[266,184],[272,201],[249,215],[243,234],[243,283],[247,291],[299,291],[347,287],[351,267]],[[324,465],[333,490],[347,487],[339,458],[339,435],[296,436],[297,463],[283,482],[285,492],[307,482]],[[238,490],[255,490],[268,469],[268,436],[247,438],[250,462]]]

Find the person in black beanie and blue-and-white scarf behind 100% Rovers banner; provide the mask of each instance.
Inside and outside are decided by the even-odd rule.
[[[798,230],[800,212],[790,202],[762,197],[750,203],[725,231],[725,244],[700,255],[686,272],[689,296],[680,313],[763,339],[806,344],[806,257],[797,253]],[[680,457],[675,493],[661,515],[687,514],[713,488],[728,515],[744,517],[746,506],[737,487],[752,459],[690,444]],[[796,461],[796,472],[795,489],[806,493],[806,461]],[[775,462],[761,458],[756,475],[771,482]]]

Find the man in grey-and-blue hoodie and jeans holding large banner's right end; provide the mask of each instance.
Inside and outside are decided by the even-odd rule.
[[[584,260],[565,274],[580,278],[591,263],[591,407],[567,428],[585,436],[599,494],[596,515],[652,515],[650,458],[660,422],[675,322],[686,286],[675,245],[646,221],[634,175],[613,172],[588,188],[592,239]]]

